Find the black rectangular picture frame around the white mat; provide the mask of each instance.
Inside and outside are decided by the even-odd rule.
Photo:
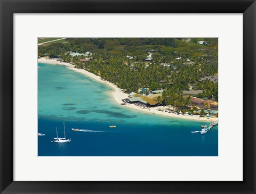
[[[1,193],[255,193],[255,0],[0,0],[0,7]],[[13,181],[14,13],[243,13],[243,181]]]

